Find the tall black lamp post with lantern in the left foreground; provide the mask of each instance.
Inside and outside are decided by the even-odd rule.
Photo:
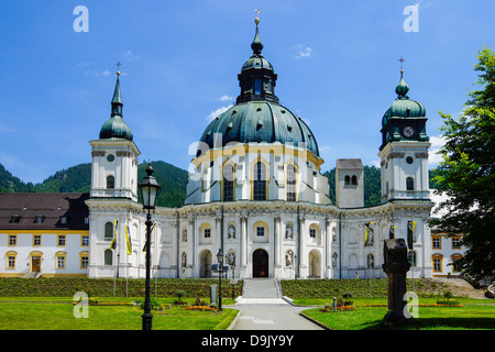
[[[151,243],[151,227],[153,222],[151,221],[150,210],[155,209],[156,195],[158,194],[160,185],[156,182],[156,178],[152,176],[154,173],[151,164],[147,165],[146,174],[143,178],[143,182],[140,184],[141,196],[143,198],[143,209],[147,210],[146,216],[146,286],[145,286],[145,298],[144,298],[144,314],[143,318],[143,330],[151,330],[153,323],[153,315],[151,314],[151,305],[150,305],[150,266],[151,266],[151,256],[150,256],[150,243]]]

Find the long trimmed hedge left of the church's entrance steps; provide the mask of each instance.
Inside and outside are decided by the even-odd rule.
[[[85,292],[90,297],[113,297],[113,278],[88,277],[50,277],[50,278],[0,278],[0,296],[4,297],[69,297],[77,292]],[[211,278],[158,278],[156,279],[157,297],[177,297],[176,292],[182,289],[186,297],[209,297],[210,285],[218,285],[218,279]],[[144,279],[125,278],[116,279],[116,296],[125,297],[128,286],[129,297],[144,297]],[[242,295],[242,280],[234,285],[235,296]],[[155,295],[155,279],[152,278],[151,295]],[[222,296],[232,295],[232,285],[222,279]]]

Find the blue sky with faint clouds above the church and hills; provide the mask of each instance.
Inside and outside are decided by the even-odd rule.
[[[407,6],[418,32],[406,32]],[[89,32],[76,32],[77,6]],[[383,113],[399,80],[427,109],[459,116],[477,80],[475,54],[495,48],[495,2],[330,0],[53,0],[0,3],[0,163],[24,182],[89,163],[89,141],[110,116],[122,63],[124,120],[140,162],[187,169],[189,146],[234,103],[251,56],[254,9],[282,105],[305,119],[326,163],[376,165]],[[430,166],[437,157],[430,153]]]

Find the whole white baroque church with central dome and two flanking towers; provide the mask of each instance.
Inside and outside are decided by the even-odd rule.
[[[338,160],[332,204],[315,135],[275,96],[257,21],[251,47],[237,105],[200,136],[185,205],[153,212],[152,277],[211,277],[220,249],[229,277],[385,277],[391,237],[408,243],[409,275],[432,277],[426,111],[404,78],[382,119],[382,204],[364,207],[361,160]],[[140,151],[122,118],[119,77],[111,118],[90,145],[88,276],[144,277]]]

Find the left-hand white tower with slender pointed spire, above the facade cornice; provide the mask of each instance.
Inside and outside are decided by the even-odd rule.
[[[138,201],[138,156],[132,131],[122,118],[120,72],[111,101],[110,119],[91,145],[91,198],[128,198]]]

